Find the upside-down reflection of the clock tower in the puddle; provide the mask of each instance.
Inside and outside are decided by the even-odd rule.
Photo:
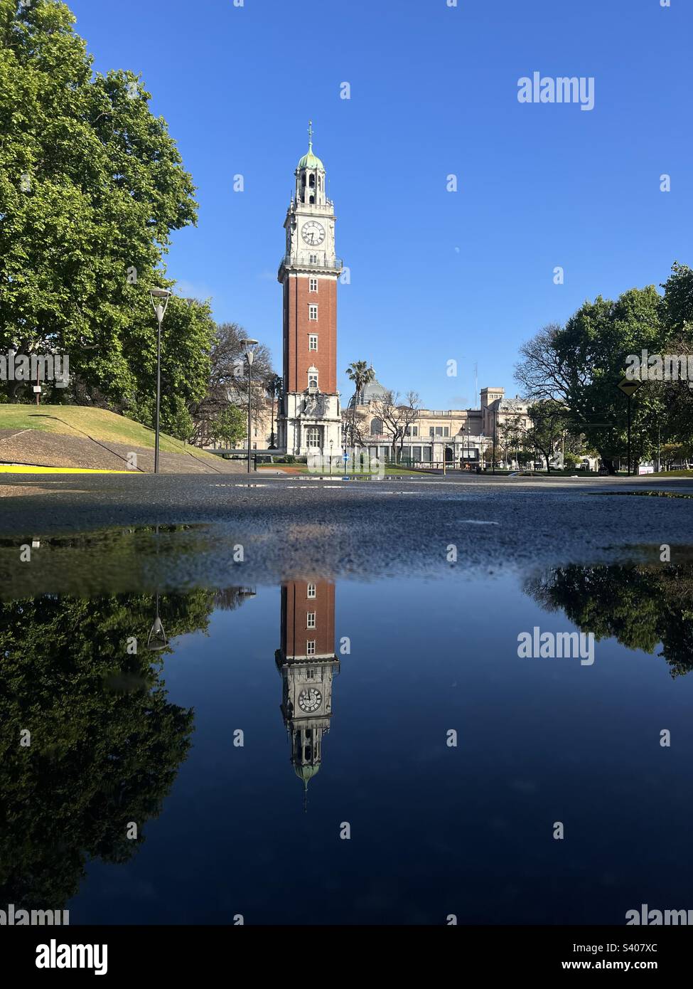
[[[334,584],[294,581],[282,586],[282,714],[291,741],[294,771],[307,789],[322,760],[322,739],[332,717]]]

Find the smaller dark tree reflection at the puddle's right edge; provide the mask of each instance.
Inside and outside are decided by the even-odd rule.
[[[563,608],[582,632],[653,653],[661,642],[671,675],[693,670],[693,566],[569,566],[528,582],[547,610]]]

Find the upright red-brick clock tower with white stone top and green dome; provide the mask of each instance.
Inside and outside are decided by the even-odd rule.
[[[278,279],[284,289],[284,398],[279,446],[296,455],[341,447],[337,395],[337,279],[334,205],[327,199],[324,165],[308,151],[296,169],[296,192],[284,223],[285,256]],[[330,447],[330,440],[332,446]]]

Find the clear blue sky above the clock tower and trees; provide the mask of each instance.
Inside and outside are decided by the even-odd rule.
[[[541,326],[693,263],[690,0],[447,3],[68,3],[97,70],[141,74],[198,187],[199,225],[168,257],[180,290],[281,367],[276,271],[311,118],[351,270],[339,387],[367,359],[432,408],[474,404],[475,363],[479,388],[514,395]],[[534,71],[593,76],[594,109],[519,103]]]

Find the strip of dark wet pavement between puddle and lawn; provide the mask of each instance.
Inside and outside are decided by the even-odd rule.
[[[644,546],[652,557],[656,549],[658,559],[661,543],[693,546],[693,498],[627,494],[693,495],[692,479],[457,475],[343,482],[258,474],[250,482],[189,475],[2,480],[8,580],[17,573],[15,548],[30,537],[62,534],[77,546],[76,533],[153,525],[191,527],[184,538],[168,535],[157,544],[166,551],[172,584],[252,583],[298,574],[433,575],[445,569],[497,573],[613,559]],[[142,560],[151,550],[149,539],[142,535]],[[239,545],[240,569],[233,556]],[[448,559],[451,546],[457,564]]]

